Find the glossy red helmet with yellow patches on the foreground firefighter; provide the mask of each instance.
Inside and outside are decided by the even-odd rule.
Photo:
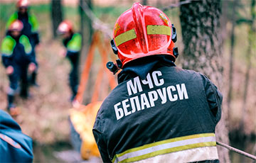
[[[122,66],[149,55],[171,55],[175,60],[174,32],[171,21],[162,11],[134,3],[114,25],[112,48]]]

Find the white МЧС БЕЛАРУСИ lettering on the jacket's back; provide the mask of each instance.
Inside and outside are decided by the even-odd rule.
[[[135,111],[142,111],[145,108],[151,108],[155,106],[155,101],[161,100],[161,104],[167,101],[177,101],[188,99],[188,93],[186,91],[185,84],[176,84],[174,86],[166,86],[159,89],[156,87],[164,84],[164,79],[160,79],[162,73],[160,71],[154,71],[151,74],[147,74],[146,79],[140,80],[139,77],[135,77],[127,81],[127,92],[129,96],[142,92],[142,84],[148,84],[149,89],[154,89],[137,96],[132,96],[129,99],[124,99],[114,104],[114,112],[117,120],[124,116],[129,116]]]

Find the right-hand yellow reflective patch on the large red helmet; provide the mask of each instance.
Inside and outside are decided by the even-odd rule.
[[[146,26],[146,33],[148,35],[171,35],[171,28],[169,26],[149,25]]]

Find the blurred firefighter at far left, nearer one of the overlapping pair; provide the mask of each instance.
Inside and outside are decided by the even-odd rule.
[[[36,69],[36,61],[31,56],[32,47],[26,35],[21,35],[23,23],[14,21],[9,26],[8,33],[1,43],[1,57],[6,74],[9,76],[10,87],[8,94],[7,110],[12,116],[18,114],[18,108],[14,105],[14,94],[18,90],[18,81],[21,80],[20,94],[28,97],[28,71]]]

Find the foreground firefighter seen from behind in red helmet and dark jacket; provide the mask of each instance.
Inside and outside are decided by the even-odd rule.
[[[122,72],[92,130],[103,162],[219,162],[222,95],[203,74],[175,66],[175,41],[154,7],[135,3],[117,19],[111,43]]]

